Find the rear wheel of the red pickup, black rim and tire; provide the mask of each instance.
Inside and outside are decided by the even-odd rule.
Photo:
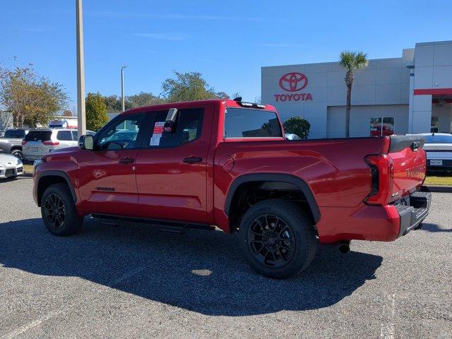
[[[242,254],[258,273],[274,279],[293,277],[314,259],[314,222],[290,201],[269,199],[243,215],[239,242]]]

